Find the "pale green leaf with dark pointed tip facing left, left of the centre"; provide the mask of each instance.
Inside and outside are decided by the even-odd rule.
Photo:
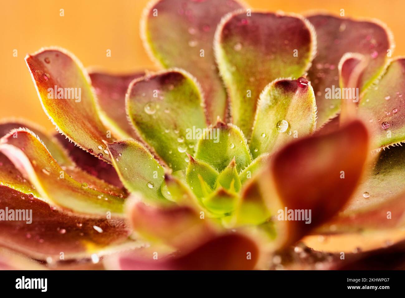
[[[145,146],[128,139],[107,144],[107,148],[126,189],[141,192],[147,200],[165,200],[160,191],[164,169]]]

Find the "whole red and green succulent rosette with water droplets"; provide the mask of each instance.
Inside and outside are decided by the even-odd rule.
[[[364,255],[347,241],[403,239],[405,59],[383,24],[159,0],[141,25],[162,70],[26,57],[59,133],[0,124],[0,209],[33,213],[1,223],[3,247],[60,266],[349,268]],[[306,235],[340,245],[292,252]]]

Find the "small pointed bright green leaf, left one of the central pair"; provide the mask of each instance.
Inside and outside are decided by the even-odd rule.
[[[209,188],[213,189],[215,181],[217,180],[218,172],[205,161],[194,159],[191,155],[188,155],[188,158],[190,159],[190,162],[185,174],[186,182],[198,198],[204,197],[204,189],[198,176],[201,176]]]

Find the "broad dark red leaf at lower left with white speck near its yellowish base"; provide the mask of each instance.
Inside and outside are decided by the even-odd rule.
[[[60,212],[43,199],[5,186],[0,186],[0,197],[0,209],[30,210],[30,219],[26,219],[32,221],[30,224],[27,221],[2,221],[1,246],[34,259],[47,259],[49,262],[51,258],[56,262],[60,260],[60,252],[63,252],[65,260],[69,260],[139,247],[136,242],[128,240],[131,230],[123,219],[100,219]],[[103,232],[97,232],[94,225]]]

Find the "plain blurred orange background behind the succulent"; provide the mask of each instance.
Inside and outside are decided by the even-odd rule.
[[[220,1],[220,0],[218,0]],[[27,53],[58,45],[85,66],[114,73],[153,68],[139,37],[139,19],[148,0],[2,0],[0,9],[0,118],[23,117],[47,129],[24,61]],[[252,9],[303,13],[323,10],[347,17],[377,18],[394,33],[394,56],[405,54],[403,0],[245,0]],[[64,17],[59,10],[64,9]],[[13,49],[18,56],[13,57]],[[111,57],[106,50],[111,49]]]

